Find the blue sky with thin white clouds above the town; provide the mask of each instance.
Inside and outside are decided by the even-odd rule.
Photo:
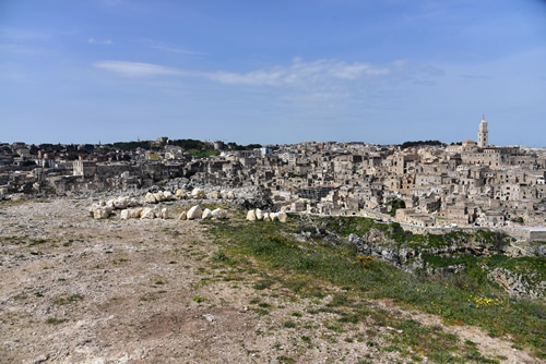
[[[0,0],[0,142],[546,147],[544,0]]]

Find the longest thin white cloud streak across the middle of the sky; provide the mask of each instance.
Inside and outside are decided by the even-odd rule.
[[[375,65],[367,62],[345,62],[322,59],[306,62],[295,58],[289,64],[275,65],[250,72],[227,71],[191,71],[180,70],[152,63],[102,61],[96,68],[116,73],[124,77],[178,76],[209,80],[215,83],[233,86],[254,87],[289,87],[305,89],[310,93],[325,93],[331,97],[343,93],[347,87],[363,84],[376,85],[377,82],[417,81],[431,83],[431,80],[443,75],[443,70],[428,64],[408,64],[394,61],[389,66]]]

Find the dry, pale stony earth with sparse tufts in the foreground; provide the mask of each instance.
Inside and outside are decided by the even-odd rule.
[[[331,295],[257,289],[262,271],[215,263],[218,246],[199,222],[93,220],[90,205],[59,198],[0,206],[1,363],[408,361],[380,349],[390,327],[328,328],[334,314],[310,312]],[[388,301],[366,304],[441,325]],[[446,329],[478,343],[485,356],[536,362],[477,328]]]

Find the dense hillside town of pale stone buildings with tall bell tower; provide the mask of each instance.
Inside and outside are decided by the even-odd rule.
[[[0,198],[135,191],[187,178],[262,186],[276,210],[373,217],[422,228],[546,225],[546,149],[477,141],[293,145],[170,141],[0,144]]]

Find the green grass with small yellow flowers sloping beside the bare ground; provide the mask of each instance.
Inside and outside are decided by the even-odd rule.
[[[358,264],[355,246],[330,243],[307,244],[296,241],[287,233],[299,231],[301,223],[294,218],[292,221],[288,225],[275,222],[238,225],[236,221],[216,221],[209,226],[223,247],[227,248],[234,258],[253,257],[264,267],[282,275],[284,281],[292,282],[292,288],[297,292],[309,292],[317,281],[325,281],[340,288],[349,288],[353,295],[391,299],[399,305],[440,315],[448,323],[475,325],[485,329],[490,336],[509,335],[513,338],[514,344],[531,348],[538,357],[546,355],[545,305],[507,296],[503,291],[485,279],[485,274],[476,262],[472,262],[472,256],[462,255],[451,258],[454,260],[448,263],[471,262],[473,264],[463,272],[447,278],[406,274],[375,258],[363,267]],[[389,236],[397,243],[407,242],[414,236],[399,231],[400,227],[394,223],[376,225],[369,219],[331,218],[322,219],[321,222],[325,229],[345,234],[354,231],[363,234],[366,230],[380,226],[379,229],[387,231]],[[463,235],[460,233],[453,233],[450,239],[456,240],[461,236]],[[508,260],[499,257],[490,257],[489,260],[491,265],[509,265]],[[525,259],[520,263],[529,264]],[[446,263],[437,262],[437,264]],[[292,279],[286,277],[292,277]],[[274,282],[271,281],[272,279],[268,278],[254,284],[254,288],[271,287]],[[486,299],[492,301],[487,303]],[[330,310],[342,306],[345,307],[344,310],[351,307],[351,298],[345,294],[334,295],[330,302]],[[340,316],[340,324],[355,323],[365,315],[346,313]],[[392,327],[411,325],[392,319],[385,321],[383,318],[382,320],[381,323],[380,318],[378,323],[389,324]],[[422,339],[407,338],[405,342],[418,353],[422,351],[427,353],[426,356],[432,361],[456,362],[464,355],[471,355],[470,349],[459,353],[462,356],[454,354],[464,347],[456,338],[447,338],[420,327],[413,327],[411,331],[420,332]],[[414,337],[419,338],[419,335]],[[430,337],[436,337],[437,343],[432,340],[430,344],[422,348],[423,337],[428,337],[429,341]]]

